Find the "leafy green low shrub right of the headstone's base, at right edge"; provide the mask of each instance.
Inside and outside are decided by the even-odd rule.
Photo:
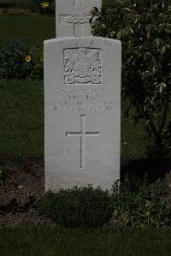
[[[168,181],[153,184],[126,179],[113,188],[114,217],[134,227],[162,227],[171,224]]]

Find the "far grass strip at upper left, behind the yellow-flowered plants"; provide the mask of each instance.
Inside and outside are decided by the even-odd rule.
[[[29,39],[43,51],[43,42],[56,37],[55,15],[0,15],[1,40]]]

